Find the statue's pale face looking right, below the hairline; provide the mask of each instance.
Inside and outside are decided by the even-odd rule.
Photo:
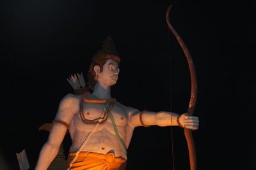
[[[96,71],[98,70],[96,69]],[[99,76],[99,83],[104,83],[108,86],[115,85],[116,81],[118,80],[119,71],[120,69],[118,67],[118,63],[114,60],[108,59],[103,66],[103,71],[101,73],[97,73]]]

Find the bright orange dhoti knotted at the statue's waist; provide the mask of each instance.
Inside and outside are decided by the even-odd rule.
[[[67,166],[76,157],[76,152],[68,154]],[[126,160],[115,157],[114,153],[80,152],[77,159],[72,163],[72,170],[125,170]]]

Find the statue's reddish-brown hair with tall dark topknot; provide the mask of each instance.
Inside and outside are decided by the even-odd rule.
[[[87,74],[88,78],[88,87],[93,90],[93,87],[97,83],[95,81],[96,73],[94,71],[95,66],[100,67],[100,73],[103,71],[103,66],[106,64],[107,60],[111,59],[120,64],[120,57],[115,50],[115,44],[112,41],[111,37],[106,38],[103,42],[102,50],[99,50],[95,55],[92,57],[92,62],[89,67],[89,71]]]

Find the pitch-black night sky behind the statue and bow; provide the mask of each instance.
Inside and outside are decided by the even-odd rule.
[[[0,169],[19,169],[26,149],[34,169],[62,97],[66,78],[86,75],[111,36],[120,54],[112,97],[139,110],[185,113],[190,96],[186,57],[168,31],[163,5],[108,1],[1,1]],[[256,169],[255,1],[174,5],[170,21],[192,55],[198,79],[193,132],[198,169]],[[173,131],[173,132],[171,132]],[[172,139],[173,148],[172,151]],[[64,140],[68,153],[70,138]],[[127,169],[189,169],[180,127],[137,127]],[[2,166],[2,167],[1,167]]]

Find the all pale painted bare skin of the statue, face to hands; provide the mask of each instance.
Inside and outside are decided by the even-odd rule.
[[[103,66],[103,71],[100,72],[100,67],[95,66],[94,71],[98,76],[98,82],[93,89],[93,95],[99,99],[111,99],[111,86],[115,85],[118,80],[120,69],[118,63],[114,60],[107,60]],[[90,99],[90,97],[88,97]],[[72,146],[70,152],[76,152],[83,143],[84,139],[92,131],[95,125],[84,124],[79,118],[79,105],[82,96],[67,94],[60,102],[56,120],[63,120],[70,124],[69,132],[72,138]],[[85,103],[83,106],[84,117],[93,119],[102,117],[103,108],[101,104]],[[120,137],[123,139],[128,148],[131,141],[132,132],[135,127],[142,126],[140,122],[140,111],[131,107],[124,106],[118,102],[113,106],[111,111],[115,118],[116,126]],[[176,113],[167,111],[152,112],[146,111],[143,113],[143,123],[146,125],[170,126],[178,125]],[[188,129],[198,129],[198,117],[182,114],[179,118],[180,124]],[[56,157],[60,148],[61,142],[65,136],[67,128],[62,124],[54,124],[49,138],[43,146],[36,170],[46,170]],[[127,159],[127,155],[122,149],[118,139],[113,131],[111,120],[107,120],[104,124],[100,124],[97,131],[91,136],[90,140],[84,146],[84,152],[95,152],[106,154],[108,152],[115,153],[115,157]]]

